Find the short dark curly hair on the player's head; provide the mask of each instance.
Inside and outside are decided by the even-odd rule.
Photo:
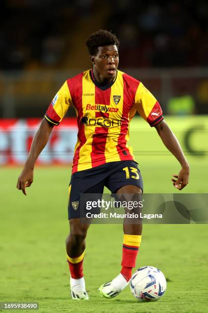
[[[97,32],[90,35],[86,41],[87,48],[90,55],[96,55],[98,52],[98,47],[110,46],[115,44],[119,47],[119,40],[115,34],[107,30],[100,29]]]

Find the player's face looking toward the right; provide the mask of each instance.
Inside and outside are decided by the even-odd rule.
[[[118,49],[115,44],[98,47],[96,55],[91,56],[93,71],[96,79],[111,81],[116,75],[118,67]]]

